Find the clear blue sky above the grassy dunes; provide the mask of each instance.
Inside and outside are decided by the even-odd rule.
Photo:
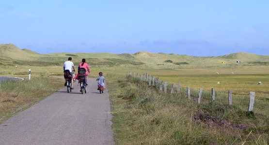
[[[269,0],[2,0],[0,43],[39,53],[269,55]]]

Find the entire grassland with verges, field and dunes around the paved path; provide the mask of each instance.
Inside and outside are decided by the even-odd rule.
[[[0,75],[27,77],[31,69],[33,77],[32,81],[0,84],[0,122],[63,87],[63,80],[52,76],[63,75],[62,65],[68,57],[73,58],[75,68],[86,58],[92,69],[90,77],[96,77],[100,71],[108,77],[117,144],[243,144],[246,141],[245,144],[268,145],[269,102],[258,97],[269,98],[269,56],[248,53],[218,57],[143,51],[43,55],[12,44],[0,44]],[[128,72],[149,73],[168,84],[180,83],[182,93],[160,94],[143,82],[128,82],[125,77]],[[258,82],[262,85],[257,85]],[[186,87],[191,88],[193,101],[186,100]],[[200,87],[204,92],[202,104],[198,105],[195,97]],[[208,101],[212,87],[217,91],[216,104]],[[232,108],[227,106],[229,89],[235,103]],[[250,91],[258,96],[254,115],[246,114]],[[195,121],[194,117],[200,114],[202,117]],[[203,115],[216,116],[232,126],[214,121],[210,124],[208,119],[203,120]],[[247,127],[235,128],[238,124]]]

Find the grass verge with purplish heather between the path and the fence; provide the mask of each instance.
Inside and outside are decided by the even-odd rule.
[[[268,145],[269,116],[159,93],[124,75],[107,75],[118,145]]]

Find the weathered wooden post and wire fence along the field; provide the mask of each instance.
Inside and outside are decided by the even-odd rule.
[[[155,87],[159,92],[171,94],[183,93],[186,94],[189,99],[197,101],[198,103],[221,102],[222,104],[237,105],[243,108],[246,107],[247,111],[253,111],[255,101],[255,108],[260,110],[269,109],[267,102],[269,101],[269,98],[254,95],[255,92],[238,94],[232,93],[231,90],[228,92],[217,91],[215,88],[212,88],[211,90],[203,90],[202,88],[195,90],[190,89],[190,87],[185,87],[186,89],[184,89],[180,83],[168,84],[167,82],[159,80],[156,76],[151,76],[149,73],[138,74],[129,72],[127,75],[148,82],[150,87]],[[264,100],[266,100],[266,102],[263,102]]]

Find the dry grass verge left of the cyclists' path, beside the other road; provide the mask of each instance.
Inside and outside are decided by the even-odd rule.
[[[63,79],[33,77],[0,83],[0,123],[63,87]]]

